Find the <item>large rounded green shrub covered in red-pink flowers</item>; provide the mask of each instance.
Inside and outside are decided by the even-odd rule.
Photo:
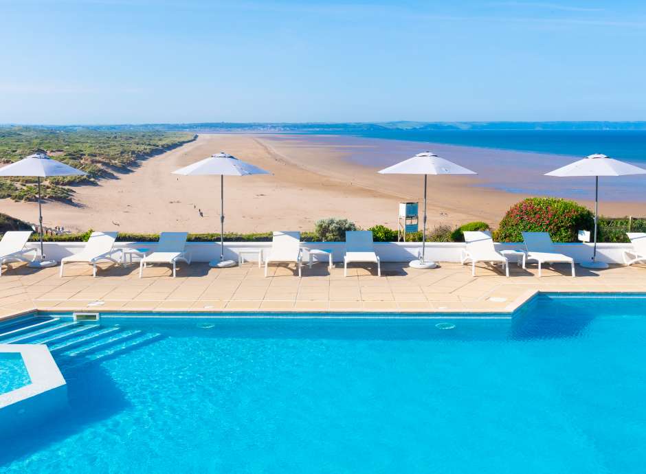
[[[586,207],[559,198],[528,198],[511,207],[495,238],[522,242],[521,232],[549,232],[555,242],[575,242],[579,229],[592,229],[594,216]]]

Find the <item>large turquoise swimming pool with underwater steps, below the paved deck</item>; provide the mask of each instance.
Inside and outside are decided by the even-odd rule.
[[[70,407],[0,440],[3,473],[643,472],[643,295],[513,319],[53,316],[28,341]]]

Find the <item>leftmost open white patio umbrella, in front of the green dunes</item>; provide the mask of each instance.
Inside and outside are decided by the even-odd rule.
[[[84,174],[87,173],[49,158],[47,153],[34,153],[34,155],[29,155],[15,163],[0,168],[0,176],[29,176],[38,179],[38,225],[40,226],[41,234],[41,256],[39,260],[36,258],[33,262],[30,262],[30,267],[44,268],[54,267],[56,265],[56,260],[45,260],[45,252],[43,251],[41,178],[49,178],[52,176],[82,176]]]

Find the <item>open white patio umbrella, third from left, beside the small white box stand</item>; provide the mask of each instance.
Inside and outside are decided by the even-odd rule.
[[[478,174],[463,166],[456,165],[447,159],[438,157],[430,151],[418,153],[412,158],[405,159],[396,165],[379,171],[381,174],[423,174],[424,175],[424,227],[422,229],[422,254],[418,260],[410,262],[410,266],[417,269],[432,269],[437,266],[435,262],[425,259],[426,247],[426,195],[427,179],[429,174]]]

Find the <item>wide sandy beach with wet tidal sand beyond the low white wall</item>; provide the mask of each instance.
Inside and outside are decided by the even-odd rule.
[[[219,178],[178,177],[171,172],[223,150],[272,173],[225,178],[227,232],[310,230],[318,219],[332,216],[349,218],[361,227],[383,224],[395,228],[397,203],[421,202],[422,178],[381,175],[376,171],[424,149],[425,144],[416,142],[355,137],[205,134],[181,148],[141,161],[138,168],[118,179],[74,188],[75,205],[45,203],[43,219],[47,227],[63,226],[75,232],[90,228],[120,232],[218,232]],[[507,181],[528,181],[526,175],[530,172],[540,174],[538,169],[525,173],[517,168],[506,171],[506,160],[528,154],[448,145],[434,145],[432,149],[480,174],[430,177],[430,228],[475,220],[497,225],[509,206],[525,196],[550,194],[567,185],[564,181],[553,180],[550,185],[536,181],[537,191],[545,186],[546,192],[506,192]],[[488,158],[494,154],[497,161]],[[559,159],[568,162],[567,157],[555,159],[550,163],[556,164]],[[487,172],[482,173],[483,168]],[[529,181],[526,189],[532,189],[534,181]],[[587,183],[577,185],[581,186],[581,196],[586,195]],[[590,197],[593,192],[590,186]],[[579,201],[592,205],[590,199]],[[4,199],[1,205],[6,214],[29,222],[37,220],[36,203]],[[603,201],[600,212],[643,216],[646,203]]]

